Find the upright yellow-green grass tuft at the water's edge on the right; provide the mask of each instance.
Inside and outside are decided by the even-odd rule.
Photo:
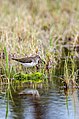
[[[64,81],[68,88],[73,88],[76,86],[76,75],[76,65],[74,58],[66,58],[64,63]]]

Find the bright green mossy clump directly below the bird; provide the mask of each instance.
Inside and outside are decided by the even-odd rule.
[[[24,82],[42,82],[44,78],[44,74],[40,72],[31,74],[17,73],[14,75],[15,80]]]

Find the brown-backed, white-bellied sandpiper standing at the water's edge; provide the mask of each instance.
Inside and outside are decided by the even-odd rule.
[[[36,55],[34,57],[25,57],[25,58],[12,58],[15,61],[20,62],[22,65],[26,66],[26,67],[33,67],[36,66],[39,62],[44,62],[39,55]],[[44,62],[45,63],[45,62]]]

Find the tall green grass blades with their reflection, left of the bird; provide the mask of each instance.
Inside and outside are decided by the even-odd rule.
[[[8,58],[8,53],[6,50],[6,47],[4,48],[4,55],[5,55],[5,68],[4,68],[4,73],[6,75],[6,79],[8,81],[8,85],[7,85],[7,89],[6,89],[6,99],[7,99],[7,103],[6,103],[6,116],[5,118],[8,118],[8,112],[9,112],[9,99],[12,99],[12,94],[11,94],[11,82],[10,82],[10,78],[11,78],[11,74],[12,74],[12,67],[9,67],[9,58]]]

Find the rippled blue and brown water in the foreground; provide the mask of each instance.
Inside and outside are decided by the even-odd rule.
[[[79,90],[64,90],[53,84],[37,90],[39,98],[13,94],[8,119],[79,119]],[[4,94],[0,94],[0,119],[5,119],[6,104]]]

